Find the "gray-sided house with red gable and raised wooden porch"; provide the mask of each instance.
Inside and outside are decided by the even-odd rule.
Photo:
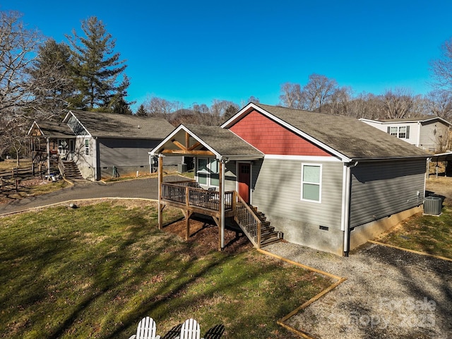
[[[429,156],[351,117],[253,103],[222,126],[180,125],[151,153],[163,163],[162,155],[196,157],[198,184],[225,192],[212,214],[220,230],[228,217],[241,225],[230,198],[238,194],[288,242],[339,255],[422,210]],[[186,210],[187,234],[191,213],[218,207],[192,199],[199,189],[160,186],[159,212]]]

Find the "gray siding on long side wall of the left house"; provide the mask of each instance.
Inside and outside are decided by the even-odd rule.
[[[158,142],[145,139],[99,139],[100,167],[149,165],[148,152]]]

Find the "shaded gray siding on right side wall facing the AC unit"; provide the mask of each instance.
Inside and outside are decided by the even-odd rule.
[[[350,227],[422,204],[425,160],[360,163],[351,173]]]

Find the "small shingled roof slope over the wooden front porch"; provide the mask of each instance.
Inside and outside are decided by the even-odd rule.
[[[225,157],[246,155],[250,157],[263,157],[263,153],[244,141],[228,129],[220,126],[183,125],[203,141],[215,152]]]

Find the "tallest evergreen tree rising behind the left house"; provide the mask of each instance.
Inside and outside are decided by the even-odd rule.
[[[116,40],[95,16],[83,20],[81,28],[85,37],[78,36],[75,30],[72,37],[66,35],[73,54],[73,79],[78,89],[73,105],[78,109],[105,112],[113,112],[117,105],[128,106],[125,96],[129,79],[124,73],[125,61],[119,60],[119,53],[114,53]]]

